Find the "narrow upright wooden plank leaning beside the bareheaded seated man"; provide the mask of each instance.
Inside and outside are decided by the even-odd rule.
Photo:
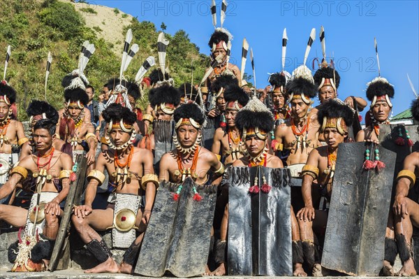
[[[67,239],[68,226],[71,222],[71,215],[73,214],[73,205],[80,203],[80,196],[82,189],[84,188],[84,182],[86,177],[87,169],[87,159],[83,155],[78,155],[75,162],[78,163],[78,169],[75,172],[75,181],[71,184],[70,190],[68,191],[66,206],[64,206],[64,214],[61,217],[61,222],[59,224],[59,231],[57,234],[57,240],[55,241],[54,250],[52,250],[52,256],[50,260],[50,265],[48,269],[54,271],[59,266],[60,269],[66,269],[68,267],[68,262],[70,257],[64,256],[64,252],[69,252],[69,249],[66,248],[69,243]],[[64,246],[64,243],[66,245]],[[63,261],[59,264],[60,259]]]

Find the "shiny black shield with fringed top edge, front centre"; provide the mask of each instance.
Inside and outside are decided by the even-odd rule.
[[[270,192],[249,193],[258,185]],[[291,187],[287,169],[233,167],[228,179],[228,275],[292,276]]]

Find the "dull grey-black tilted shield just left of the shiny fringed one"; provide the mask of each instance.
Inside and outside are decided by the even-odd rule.
[[[210,232],[216,186],[198,186],[186,178],[179,185],[162,182],[135,266],[135,273],[161,277],[170,271],[177,277],[201,276],[210,250]],[[193,187],[202,200],[193,199]]]

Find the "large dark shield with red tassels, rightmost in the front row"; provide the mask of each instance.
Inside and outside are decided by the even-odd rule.
[[[374,157],[374,148],[368,144]],[[365,143],[341,143],[323,247],[322,266],[355,276],[376,276],[383,266],[384,238],[395,168],[394,152],[378,145],[385,168],[362,169]]]

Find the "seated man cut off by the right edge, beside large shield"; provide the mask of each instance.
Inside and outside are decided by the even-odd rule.
[[[419,99],[413,101],[411,112],[413,118],[419,121]],[[416,187],[418,189],[419,184],[416,180],[418,173],[419,151],[415,151],[404,159],[403,170],[397,175],[395,203],[393,205],[395,215],[395,243],[397,244],[399,257],[403,264],[397,276],[416,276],[415,262],[412,257],[412,233],[413,226],[419,227],[419,201],[409,199],[408,194],[409,188]],[[388,246],[388,241],[394,242],[391,238],[385,238],[386,246]],[[394,243],[392,244],[392,247],[395,247]],[[385,252],[387,251],[388,249],[386,247]],[[392,255],[385,255],[385,269],[392,271],[392,265],[395,262],[396,256],[397,251],[395,249],[392,249]],[[394,276],[395,274],[393,272],[390,275]]]

